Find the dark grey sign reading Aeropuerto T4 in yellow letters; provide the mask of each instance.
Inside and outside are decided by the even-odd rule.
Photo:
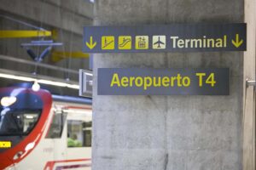
[[[98,95],[229,95],[230,70],[98,69]]]

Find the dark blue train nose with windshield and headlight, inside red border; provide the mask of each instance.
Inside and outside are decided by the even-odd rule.
[[[0,89],[0,136],[27,135],[32,132],[42,111],[42,99],[28,89]]]

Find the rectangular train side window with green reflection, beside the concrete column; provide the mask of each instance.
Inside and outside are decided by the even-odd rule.
[[[67,121],[67,147],[91,146],[91,122]]]

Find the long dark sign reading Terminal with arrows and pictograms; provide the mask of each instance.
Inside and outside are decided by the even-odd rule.
[[[245,23],[85,26],[85,53],[245,51]]]

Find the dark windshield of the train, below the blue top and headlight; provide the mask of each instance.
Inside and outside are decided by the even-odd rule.
[[[41,110],[0,109],[0,135],[27,135],[40,114]]]

